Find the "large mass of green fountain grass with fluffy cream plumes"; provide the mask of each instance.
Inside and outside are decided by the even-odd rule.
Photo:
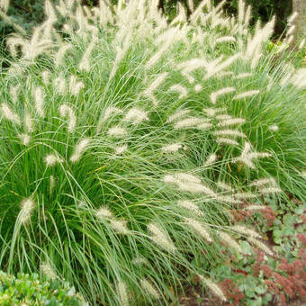
[[[271,253],[230,211],[302,197],[305,70],[275,63],[274,20],[251,33],[242,3],[170,24],[156,1],[106,3],[47,0],[6,40],[0,267],[48,263],[94,305],[167,304],[187,275],[226,301],[209,267],[241,239]]]

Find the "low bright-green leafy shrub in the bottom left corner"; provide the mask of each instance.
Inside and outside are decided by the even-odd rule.
[[[59,281],[42,281],[39,275],[17,277],[0,271],[0,305],[87,305],[74,287]]]

